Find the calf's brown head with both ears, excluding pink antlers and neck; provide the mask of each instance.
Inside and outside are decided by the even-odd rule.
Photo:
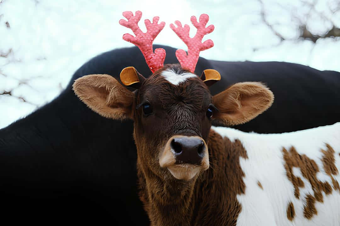
[[[273,94],[261,83],[244,82],[211,96],[215,70],[201,78],[179,65],[165,65],[145,79],[130,67],[121,73],[124,88],[108,75],[77,79],[73,89],[92,110],[112,119],[134,120],[138,166],[143,174],[165,180],[191,180],[209,167],[207,140],[211,121],[230,126],[266,110]],[[114,128],[113,128],[114,129]]]

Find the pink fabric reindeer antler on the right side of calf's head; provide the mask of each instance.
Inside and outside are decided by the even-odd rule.
[[[190,20],[191,23],[197,28],[197,33],[193,38],[190,38],[189,36],[190,27],[187,24],[182,27],[181,22],[176,20],[175,24],[177,27],[175,27],[173,24],[170,24],[170,27],[188,46],[188,55],[183,49],[176,50],[176,57],[178,61],[180,62],[183,69],[190,70],[192,73],[194,73],[200,52],[214,46],[214,42],[212,42],[211,39],[208,39],[202,43],[203,36],[211,33],[215,27],[214,25],[205,27],[209,20],[209,16],[206,14],[202,14],[200,16],[200,22],[197,22],[195,16],[192,16]]]

